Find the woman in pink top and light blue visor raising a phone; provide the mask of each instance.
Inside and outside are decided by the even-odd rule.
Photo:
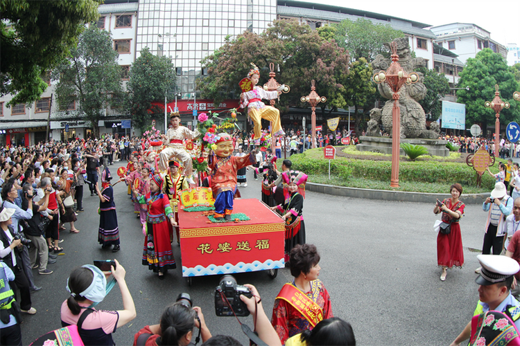
[[[114,261],[116,267],[111,266],[110,272],[103,272],[96,266],[85,264],[75,268],[67,280],[67,291],[70,295],[61,307],[62,327],[77,325],[78,334],[85,346],[113,346],[112,333],[137,316],[134,300],[125,282],[125,268],[117,260]],[[91,306],[102,302],[114,286],[114,280],[107,284],[107,276],[110,273],[119,283],[123,310],[92,309]]]

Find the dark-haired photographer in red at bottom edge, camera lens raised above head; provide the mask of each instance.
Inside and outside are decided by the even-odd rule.
[[[199,329],[196,344],[211,338],[200,307],[191,307],[188,293],[180,293],[174,304],[164,309],[158,325],[147,325],[134,336],[133,346],[184,346],[193,345],[193,327]]]

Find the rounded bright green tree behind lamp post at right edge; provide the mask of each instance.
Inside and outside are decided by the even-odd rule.
[[[484,102],[493,100],[495,84],[499,85],[501,99],[511,104],[510,109],[501,111],[501,123],[520,119],[519,104],[512,98],[514,91],[518,90],[517,80],[514,79],[502,55],[484,48],[474,58],[467,60],[458,81],[458,85],[469,86],[469,91],[466,89],[457,91],[457,102],[466,104],[467,127],[480,122],[485,131],[487,124],[494,123],[495,113],[492,109],[485,108]]]

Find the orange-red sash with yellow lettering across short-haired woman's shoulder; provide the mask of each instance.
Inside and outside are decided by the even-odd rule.
[[[313,280],[310,284],[313,293],[313,300],[316,300],[320,294],[321,281]],[[291,304],[291,306],[300,312],[313,327],[323,320],[323,311],[320,305],[307,297],[305,293],[300,291],[300,289],[290,282],[284,284],[276,299],[283,299]]]

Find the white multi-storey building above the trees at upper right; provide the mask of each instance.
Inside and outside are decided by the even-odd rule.
[[[469,57],[475,57],[483,48],[490,48],[504,58],[508,55],[508,50],[503,44],[491,39],[489,31],[475,24],[444,24],[432,26],[430,30],[437,37],[435,43],[458,55],[458,59],[464,64]]]

